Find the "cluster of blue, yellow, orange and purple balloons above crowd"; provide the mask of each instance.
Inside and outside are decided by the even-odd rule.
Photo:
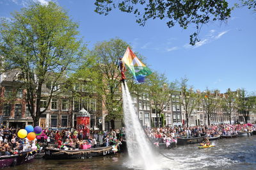
[[[35,128],[31,125],[26,126],[26,128],[22,128],[18,132],[19,138],[27,137],[29,141],[33,141],[36,138],[36,135],[40,135],[42,133],[42,127],[36,126]]]

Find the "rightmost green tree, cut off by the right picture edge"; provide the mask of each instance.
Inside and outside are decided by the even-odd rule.
[[[238,113],[243,115],[245,123],[248,123],[250,112],[256,105],[255,95],[248,93],[244,89],[238,90],[236,103]]]

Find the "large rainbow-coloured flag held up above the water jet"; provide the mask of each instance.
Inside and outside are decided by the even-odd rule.
[[[129,47],[127,47],[122,61],[124,61],[125,65],[130,68],[132,75],[137,82],[144,82],[145,77],[152,73],[149,68],[135,56]]]

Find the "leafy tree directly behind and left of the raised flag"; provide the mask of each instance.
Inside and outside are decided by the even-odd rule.
[[[111,128],[115,128],[115,120],[122,119],[122,95],[120,91],[120,71],[118,61],[125,53],[128,43],[114,38],[95,45],[88,57],[95,58],[94,66],[97,72],[97,93],[102,97],[102,103],[106,109],[106,120],[111,122]]]

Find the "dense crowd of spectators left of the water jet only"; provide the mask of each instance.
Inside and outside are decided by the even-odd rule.
[[[83,145],[88,148],[109,146],[125,137],[124,128],[100,131],[90,130],[84,133],[76,128],[62,130],[44,129],[40,139],[29,141],[17,136],[19,128],[0,128],[0,156],[21,153],[27,150],[44,150],[45,147],[60,148],[61,150],[76,150]]]

